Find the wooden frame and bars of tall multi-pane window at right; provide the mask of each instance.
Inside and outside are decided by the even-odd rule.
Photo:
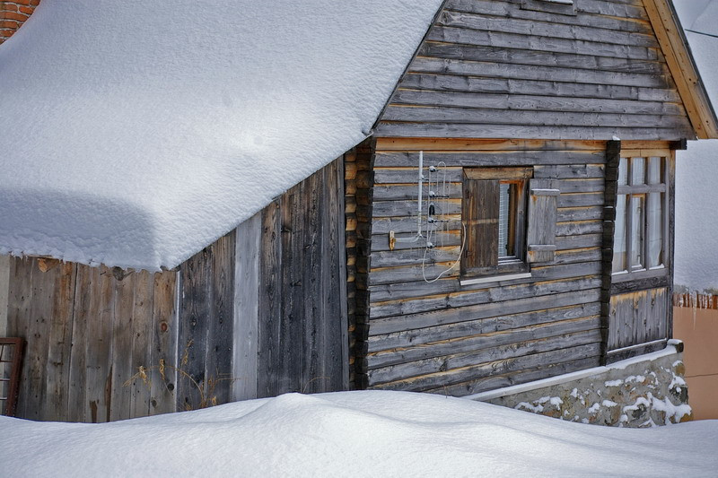
[[[620,154],[620,161],[627,161],[626,163],[626,185],[617,186],[617,196],[626,196],[626,208],[625,217],[616,217],[616,222],[624,221],[625,224],[625,240],[626,240],[626,269],[623,271],[611,272],[611,282],[626,282],[635,281],[641,279],[647,279],[652,277],[661,277],[670,274],[670,184],[671,178],[671,161],[672,152],[670,150],[655,150],[655,151],[622,151]],[[644,159],[644,184],[633,184],[633,160]],[[661,170],[661,183],[660,184],[645,184],[647,182],[646,177],[648,174],[648,162],[651,158],[661,158],[663,160]],[[631,264],[631,256],[633,253],[632,244],[632,232],[634,230],[633,224],[633,202],[637,196],[644,198],[644,218],[648,218],[648,194],[649,193],[661,193],[663,195],[661,201],[661,257],[662,264],[658,266],[648,267],[648,228],[649,224],[647,219],[644,220],[644,247],[642,251],[644,265],[640,269],[634,269]],[[617,228],[616,228],[617,229]],[[614,237],[615,244],[615,237]]]

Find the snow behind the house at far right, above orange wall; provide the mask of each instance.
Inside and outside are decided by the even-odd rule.
[[[674,0],[688,44],[718,105],[718,1]],[[713,35],[713,36],[712,36]],[[718,289],[718,140],[689,142],[676,161],[676,272],[692,291]]]

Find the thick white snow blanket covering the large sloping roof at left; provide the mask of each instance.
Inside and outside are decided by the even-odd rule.
[[[440,0],[43,0],[0,46],[0,253],[180,264],[363,140]]]

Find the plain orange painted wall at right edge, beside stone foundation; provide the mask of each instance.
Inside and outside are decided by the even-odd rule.
[[[718,309],[674,307],[673,336],[686,344],[688,404],[696,420],[718,419]]]

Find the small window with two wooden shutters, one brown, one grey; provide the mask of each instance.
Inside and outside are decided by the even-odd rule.
[[[553,260],[558,190],[532,172],[464,169],[462,278],[526,274],[530,263]]]

